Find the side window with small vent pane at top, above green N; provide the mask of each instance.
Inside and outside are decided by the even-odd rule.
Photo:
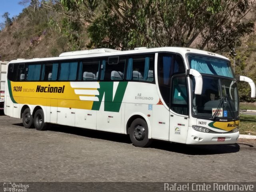
[[[108,61],[118,61],[108,63]],[[123,80],[124,79],[124,66],[126,62],[126,56],[119,58],[103,58],[100,66],[100,80]]]

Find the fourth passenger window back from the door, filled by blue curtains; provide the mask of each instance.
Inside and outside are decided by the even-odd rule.
[[[62,62],[60,64],[59,80],[76,80],[78,62]]]

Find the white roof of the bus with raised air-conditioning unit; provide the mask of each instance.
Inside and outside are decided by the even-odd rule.
[[[51,58],[33,58],[25,60],[12,60],[10,63],[24,63],[24,62],[41,62],[41,61],[52,61],[52,60],[67,60],[67,59],[80,59],[80,58],[91,58],[91,57],[107,57],[107,56],[116,56],[116,55],[126,55],[126,54],[143,54],[143,53],[154,53],[154,52],[174,52],[181,54],[185,57],[187,53],[203,54],[208,56],[215,56],[225,60],[228,58],[203,50],[193,49],[193,48],[183,48],[183,47],[161,47],[161,48],[135,48],[134,50],[128,51],[119,51],[114,49],[100,48],[93,50],[81,50],[73,52],[64,52],[58,57]]]

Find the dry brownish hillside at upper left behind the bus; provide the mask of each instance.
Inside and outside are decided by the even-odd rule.
[[[0,32],[0,59],[52,57],[70,50],[68,37],[60,33],[58,26],[51,26],[53,19],[62,18],[46,8],[25,8]]]

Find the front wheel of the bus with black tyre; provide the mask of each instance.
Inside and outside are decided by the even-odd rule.
[[[135,119],[129,129],[130,140],[136,147],[147,147],[151,140],[148,139],[148,124],[141,118]]]

